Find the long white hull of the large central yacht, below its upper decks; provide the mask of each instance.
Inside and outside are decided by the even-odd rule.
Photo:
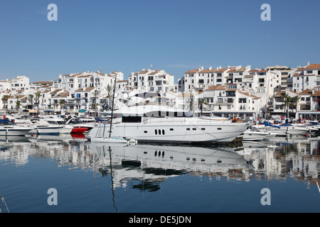
[[[112,138],[160,143],[218,143],[230,142],[247,130],[250,123],[114,123]],[[109,137],[110,124],[96,126],[90,140]]]

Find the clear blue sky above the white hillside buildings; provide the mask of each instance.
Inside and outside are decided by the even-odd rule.
[[[265,3],[271,21],[260,19]],[[0,79],[320,63],[319,10],[319,0],[1,0]]]

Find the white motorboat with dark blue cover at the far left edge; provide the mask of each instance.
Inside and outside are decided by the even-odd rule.
[[[0,120],[0,135],[2,136],[24,136],[32,128],[27,128],[23,126],[17,126],[15,123],[9,121],[8,119]]]

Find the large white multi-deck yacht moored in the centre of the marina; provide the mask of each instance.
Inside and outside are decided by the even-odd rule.
[[[252,126],[198,118],[165,105],[121,106],[112,116],[112,123],[92,128],[88,134],[92,142],[110,142],[108,138],[164,143],[230,142]]]

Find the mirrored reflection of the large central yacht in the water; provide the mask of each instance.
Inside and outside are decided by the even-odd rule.
[[[160,182],[181,175],[240,177],[249,175],[247,161],[232,148],[90,143],[90,150],[110,172],[113,187],[154,192]],[[112,170],[112,171],[110,171]]]

